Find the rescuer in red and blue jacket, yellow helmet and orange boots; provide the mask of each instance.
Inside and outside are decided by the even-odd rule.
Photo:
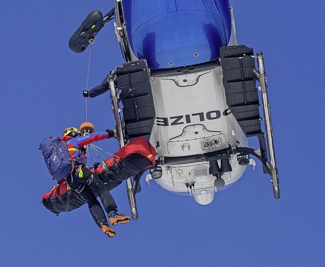
[[[114,237],[116,233],[108,224],[103,208],[96,196],[100,197],[109,221],[113,225],[127,223],[131,218],[117,213],[117,206],[107,185],[97,175],[91,173],[86,166],[84,146],[112,137],[117,138],[116,130],[107,129],[103,132],[94,132],[90,135],[82,136],[75,127],[69,127],[64,130],[63,137],[61,137],[61,140],[67,145],[74,165],[74,170],[67,177],[67,182],[73,190],[85,199],[95,223],[110,238]]]

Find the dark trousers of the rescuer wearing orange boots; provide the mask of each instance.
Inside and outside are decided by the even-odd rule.
[[[70,187],[78,192],[87,202],[89,212],[95,223],[107,224],[107,219],[97,196],[100,197],[104,209],[107,213],[117,210],[114,198],[98,176],[92,174],[86,166],[77,166],[73,173],[67,177]]]

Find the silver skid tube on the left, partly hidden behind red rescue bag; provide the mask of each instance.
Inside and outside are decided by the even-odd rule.
[[[108,77],[108,81],[109,81],[109,87],[110,87],[110,91],[111,91],[111,102],[112,102],[112,109],[113,109],[114,118],[115,118],[116,130],[118,132],[118,136],[120,137],[119,148],[121,148],[125,145],[125,142],[124,142],[124,138],[123,138],[124,135],[123,135],[123,129],[122,129],[121,116],[120,116],[120,107],[117,102],[114,77],[112,75],[110,75]],[[134,220],[137,220],[138,219],[137,202],[136,202],[136,197],[135,197],[134,191],[132,190],[131,177],[127,178],[125,181],[126,181],[126,192],[127,192],[127,197],[128,197],[128,203],[131,207],[132,218]]]

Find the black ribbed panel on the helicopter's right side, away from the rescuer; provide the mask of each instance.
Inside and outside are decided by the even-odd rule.
[[[226,102],[247,137],[262,133],[258,91],[253,77],[253,49],[244,45],[220,48]]]

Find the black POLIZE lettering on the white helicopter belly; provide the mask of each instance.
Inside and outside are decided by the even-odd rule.
[[[228,116],[232,112],[230,109],[226,109],[222,112],[223,116]],[[178,115],[172,116],[169,118],[163,117],[156,117],[156,125],[158,126],[173,126],[173,125],[180,125],[180,124],[187,124],[193,123],[198,121],[205,121],[205,120],[216,120],[221,117],[221,112],[219,110],[212,110],[208,112],[199,112],[199,113],[192,113],[186,115]]]

